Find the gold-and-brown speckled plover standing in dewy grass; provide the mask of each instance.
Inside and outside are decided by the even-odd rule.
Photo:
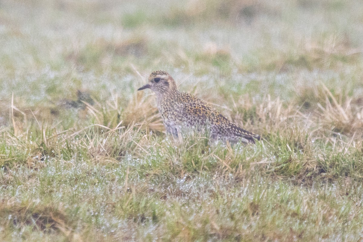
[[[156,104],[168,133],[182,134],[186,128],[207,128],[212,139],[230,143],[255,143],[260,135],[244,130],[232,123],[219,111],[200,98],[178,91],[174,79],[166,71],[152,72],[148,83],[138,89],[151,89],[156,94]]]

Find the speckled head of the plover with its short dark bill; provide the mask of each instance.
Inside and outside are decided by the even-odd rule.
[[[156,95],[163,96],[176,91],[174,79],[166,71],[154,71],[148,78],[148,83],[138,91],[150,88]]]

